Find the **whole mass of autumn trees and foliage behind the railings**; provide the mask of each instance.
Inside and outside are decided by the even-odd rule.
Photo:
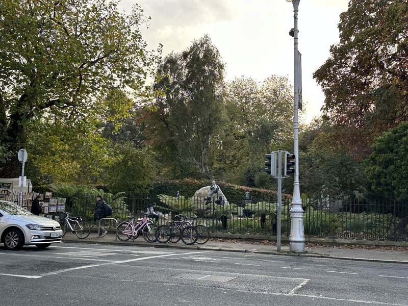
[[[323,115],[300,122],[302,198],[406,196],[407,16],[402,0],[352,0],[340,15],[340,42],[314,73]],[[19,176],[24,147],[34,186],[63,186],[72,205],[73,185],[115,198],[175,195],[212,179],[242,186],[241,195],[276,190],[264,155],[293,151],[290,81],[227,82],[208,35],[162,57],[161,45],[143,40],[148,20],[138,5],[126,14],[114,1],[0,3],[1,177]],[[284,180],[283,192],[292,189]]]

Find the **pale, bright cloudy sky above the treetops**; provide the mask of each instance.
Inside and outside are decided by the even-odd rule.
[[[309,123],[320,115],[324,95],[313,79],[339,42],[339,15],[349,0],[301,0],[298,12],[298,49],[302,54],[301,118]],[[263,82],[270,75],[285,76],[293,85],[294,49],[289,31],[293,5],[285,0],[122,0],[130,11],[137,3],[151,17],[141,27],[148,49],[163,44],[163,56],[182,52],[194,39],[208,34],[226,64],[226,81],[244,75]]]

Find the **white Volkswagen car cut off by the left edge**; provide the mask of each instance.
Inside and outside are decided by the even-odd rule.
[[[61,242],[60,224],[52,219],[33,215],[9,201],[0,200],[0,243],[9,250],[34,244],[46,248]]]

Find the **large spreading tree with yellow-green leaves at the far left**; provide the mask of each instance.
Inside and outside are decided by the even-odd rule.
[[[155,64],[134,6],[120,13],[115,1],[4,0],[0,3],[0,142],[2,176],[18,175],[17,151],[29,122],[44,114],[66,122],[98,116],[112,88],[143,95]],[[11,153],[10,153],[11,152]]]

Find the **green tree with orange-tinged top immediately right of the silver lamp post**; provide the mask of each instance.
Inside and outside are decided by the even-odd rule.
[[[313,121],[300,134],[299,144],[302,193],[312,199],[327,196],[349,199],[361,189],[362,163],[357,162],[347,152],[345,144],[339,142],[333,125],[321,119]]]

